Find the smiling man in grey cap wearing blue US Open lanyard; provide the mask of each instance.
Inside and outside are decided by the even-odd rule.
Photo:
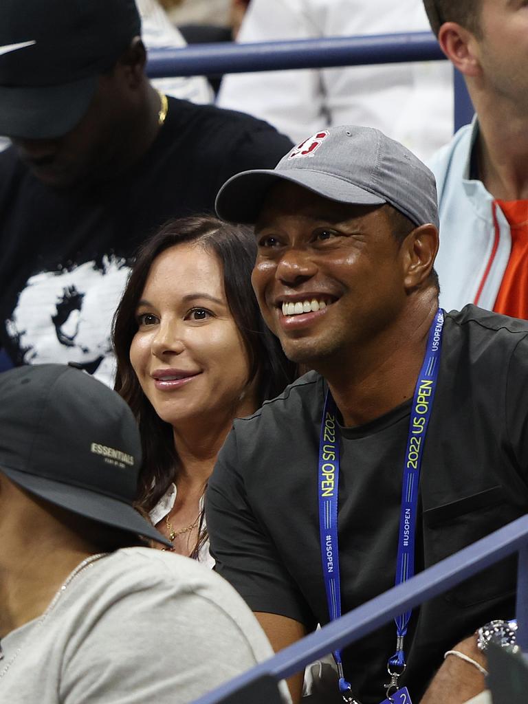
[[[264,318],[315,370],[235,421],[206,495],[216,569],[281,648],[526,512],[528,322],[439,310],[434,177],[377,130],[322,130],[216,203],[255,225]],[[345,648],[347,700],[478,693],[472,633],[513,593],[504,563]]]

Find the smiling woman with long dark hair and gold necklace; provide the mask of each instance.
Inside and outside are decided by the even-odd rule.
[[[135,259],[115,313],[115,389],[142,435],[139,507],[175,551],[210,562],[203,491],[234,417],[294,379],[251,289],[253,233],[173,220]]]

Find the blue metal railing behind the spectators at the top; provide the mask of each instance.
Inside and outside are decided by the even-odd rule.
[[[292,68],[329,68],[405,61],[445,60],[434,34],[370,34],[363,37],[295,39],[257,44],[199,44],[149,52],[147,73],[165,76],[220,75]],[[473,108],[465,83],[455,72],[455,130],[471,121]]]

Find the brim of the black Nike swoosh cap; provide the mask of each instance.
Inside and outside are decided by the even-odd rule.
[[[80,122],[96,92],[97,76],[56,86],[0,86],[0,134],[56,139]]]

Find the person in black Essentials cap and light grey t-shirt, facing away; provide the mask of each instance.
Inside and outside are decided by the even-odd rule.
[[[85,372],[0,375],[0,701],[183,704],[271,653],[237,593],[134,508],[130,408]],[[123,549],[118,549],[123,548]]]

